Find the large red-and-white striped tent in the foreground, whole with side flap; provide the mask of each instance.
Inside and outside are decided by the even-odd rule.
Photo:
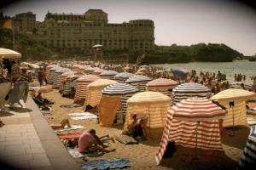
[[[223,119],[225,114],[226,111],[210,99],[183,99],[172,106],[167,112],[156,163],[160,163],[169,141],[189,148],[222,150],[218,119]]]

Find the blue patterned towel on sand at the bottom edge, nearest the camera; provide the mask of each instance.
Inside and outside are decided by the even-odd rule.
[[[82,168],[86,170],[103,170],[131,167],[131,161],[128,159],[113,159],[113,160],[93,160],[82,163]]]

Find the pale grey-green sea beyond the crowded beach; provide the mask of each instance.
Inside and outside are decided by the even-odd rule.
[[[251,83],[250,77],[256,77],[256,61],[249,61],[247,59],[236,60],[233,62],[191,62],[178,64],[157,64],[150,66],[163,67],[169,69],[188,69],[195,70],[197,74],[199,71],[215,72],[221,71],[226,74],[227,81],[234,82],[234,75],[241,73],[246,75],[246,82]]]

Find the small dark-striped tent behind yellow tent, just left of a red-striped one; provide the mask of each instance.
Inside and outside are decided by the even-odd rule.
[[[125,82],[131,84],[132,86],[136,86],[141,92],[143,92],[146,89],[146,84],[151,80],[152,79],[150,77],[134,75],[133,77],[128,78]]]

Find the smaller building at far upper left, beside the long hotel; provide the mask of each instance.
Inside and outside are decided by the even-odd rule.
[[[36,14],[32,12],[15,15],[15,30],[20,33],[32,34],[36,28]]]

